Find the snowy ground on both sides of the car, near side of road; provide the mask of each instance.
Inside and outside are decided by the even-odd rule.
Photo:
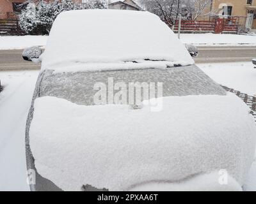
[[[256,69],[251,62],[198,64],[216,82],[256,94]],[[0,191],[28,191],[24,132],[38,71],[1,71],[0,92]],[[256,161],[246,190],[256,190]]]

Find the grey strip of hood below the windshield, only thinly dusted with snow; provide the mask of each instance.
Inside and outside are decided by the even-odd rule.
[[[47,70],[40,85],[40,97],[56,96],[79,105],[95,105],[93,96],[96,83],[106,85],[106,91],[113,85],[123,82],[163,82],[163,96],[225,95],[226,92],[195,65],[168,69],[131,69],[116,71],[92,71],[56,73]],[[116,90],[115,92],[118,92]],[[143,96],[141,96],[143,100]]]

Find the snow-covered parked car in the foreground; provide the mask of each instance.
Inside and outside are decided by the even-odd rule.
[[[156,15],[54,21],[26,126],[31,190],[240,191],[255,136],[245,103]]]

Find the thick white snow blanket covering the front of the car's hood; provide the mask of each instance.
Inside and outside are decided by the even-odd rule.
[[[35,100],[29,139],[36,169],[63,190],[127,190],[221,169],[242,186],[255,153],[249,111],[231,93],[163,98],[161,112],[46,96]]]

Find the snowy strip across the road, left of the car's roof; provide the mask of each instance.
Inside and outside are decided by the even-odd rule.
[[[0,36],[0,50],[24,49],[33,46],[44,47],[48,36]]]

